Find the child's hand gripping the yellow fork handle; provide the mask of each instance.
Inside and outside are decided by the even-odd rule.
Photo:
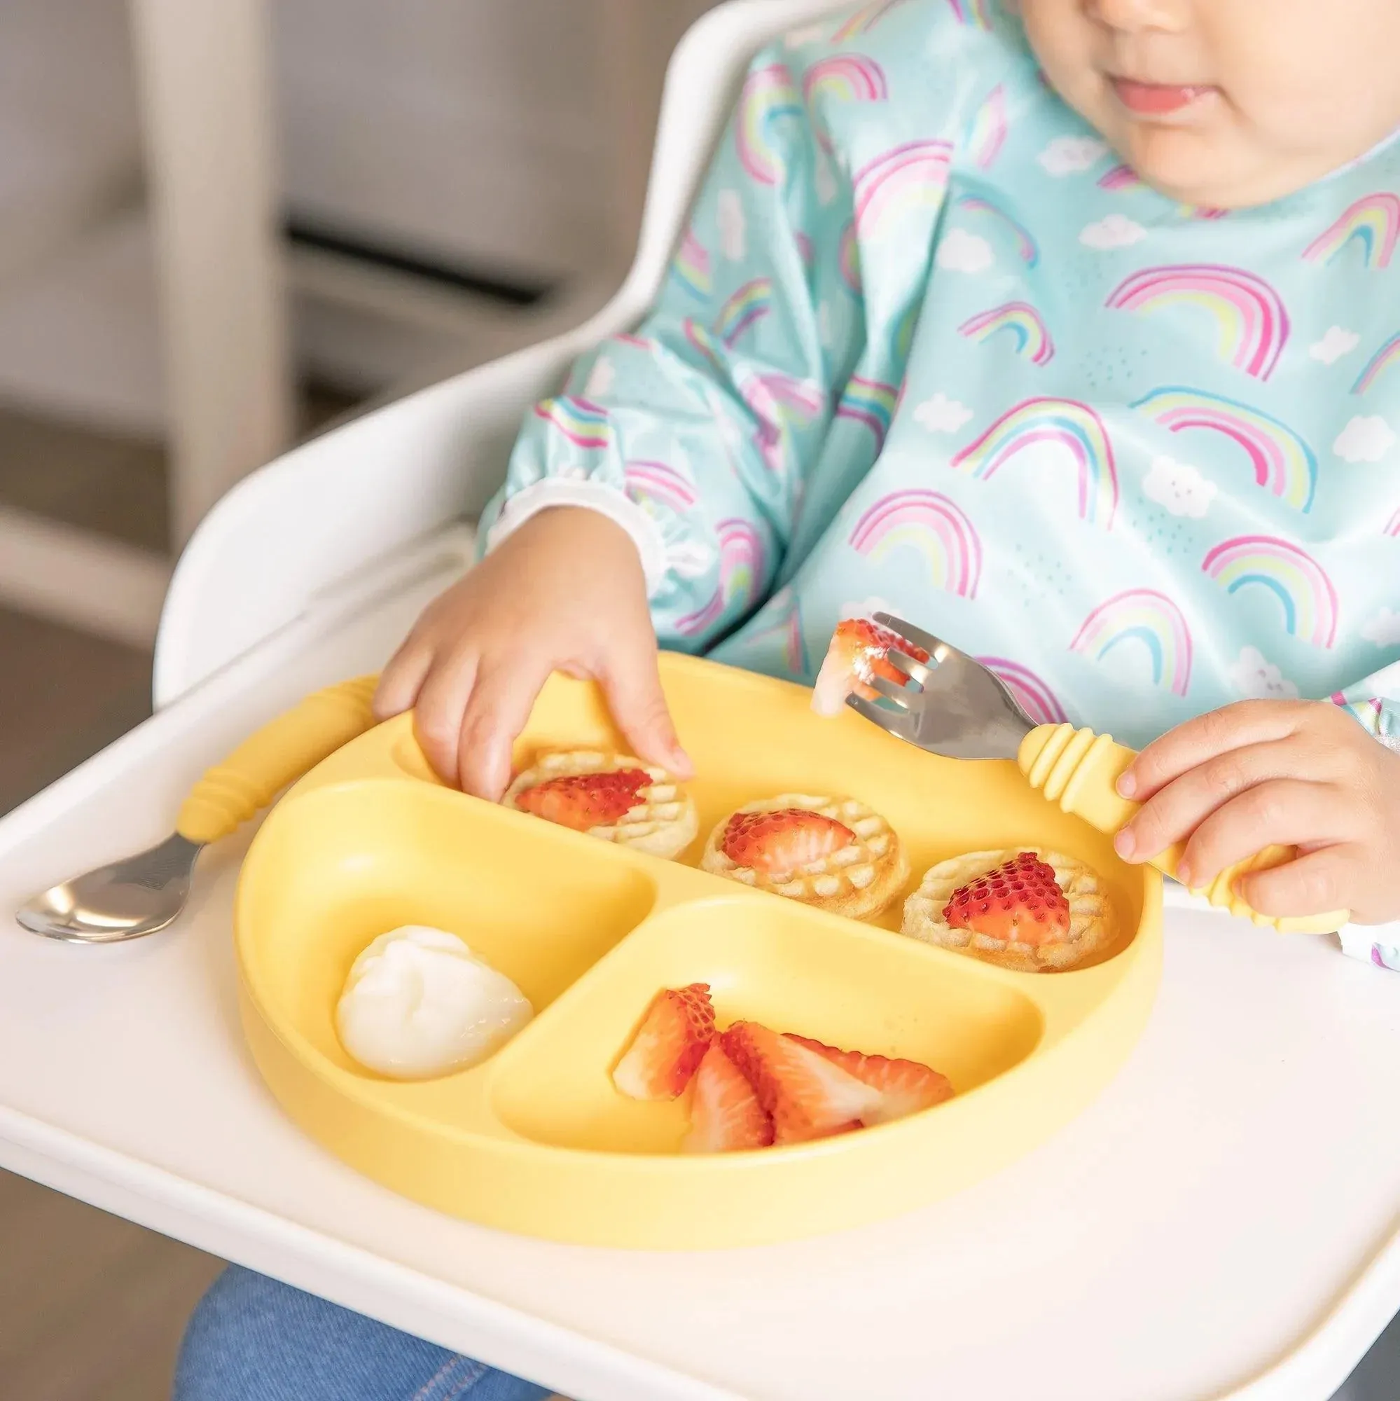
[[[1239,881],[1260,913],[1400,919],[1400,755],[1334,705],[1245,700],[1189,720],[1119,792],[1144,804],[1117,836],[1124,860],[1189,839],[1180,878],[1201,887],[1277,842],[1298,859]]]

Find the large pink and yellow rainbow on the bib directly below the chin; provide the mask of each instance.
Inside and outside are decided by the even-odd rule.
[[[1109,307],[1144,315],[1172,307],[1191,307],[1215,321],[1222,360],[1257,380],[1267,380],[1288,343],[1288,311],[1261,277],[1242,268],[1182,263],[1147,268],[1123,282]]]

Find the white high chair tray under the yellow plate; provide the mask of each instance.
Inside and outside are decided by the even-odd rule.
[[[447,577],[407,574],[0,818],[0,908],[161,838],[256,724],[381,667]],[[0,920],[0,1164],[574,1401],[1327,1401],[1400,1309],[1400,979],[1326,939],[1168,909],[1120,1072],[955,1195],[762,1248],[598,1250],[421,1206],[288,1119],[239,1026],[245,850],[206,852],[134,944]]]

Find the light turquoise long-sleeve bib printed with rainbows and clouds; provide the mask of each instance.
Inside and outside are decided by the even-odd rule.
[[[986,0],[753,62],[666,284],[489,513],[606,511],[664,646],[811,679],[883,604],[1141,745],[1246,696],[1400,744],[1400,143],[1263,209],[1144,186]]]

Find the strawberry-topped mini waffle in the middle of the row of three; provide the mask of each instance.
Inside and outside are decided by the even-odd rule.
[[[879,813],[851,797],[780,793],[731,813],[700,864],[714,876],[848,919],[872,919],[904,888],[909,862]]]

